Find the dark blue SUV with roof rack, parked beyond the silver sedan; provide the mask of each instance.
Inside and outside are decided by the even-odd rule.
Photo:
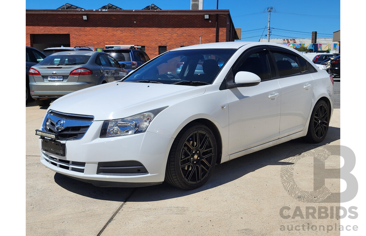
[[[103,52],[114,57],[128,72],[150,60],[146,52],[135,45],[105,45]]]

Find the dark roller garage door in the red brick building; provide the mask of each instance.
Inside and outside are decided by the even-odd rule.
[[[42,51],[51,47],[70,47],[70,34],[31,34],[31,46]]]

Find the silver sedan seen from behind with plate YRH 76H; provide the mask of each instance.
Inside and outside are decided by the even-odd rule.
[[[127,74],[127,70],[104,52],[79,50],[53,53],[30,68],[30,94],[39,106],[46,106],[55,98],[117,81]]]

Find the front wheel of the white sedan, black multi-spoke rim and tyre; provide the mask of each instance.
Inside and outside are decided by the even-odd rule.
[[[173,142],[165,181],[184,190],[201,187],[212,175],[216,158],[217,145],[212,131],[203,124],[191,124]]]

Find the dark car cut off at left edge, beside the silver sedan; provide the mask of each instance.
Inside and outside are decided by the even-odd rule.
[[[35,65],[45,59],[46,56],[38,49],[29,46],[25,47],[25,104],[27,104],[32,98],[30,96],[29,89],[29,75],[28,71],[32,65]]]

